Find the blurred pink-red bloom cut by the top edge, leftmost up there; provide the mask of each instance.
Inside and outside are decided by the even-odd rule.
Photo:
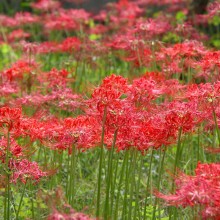
[[[52,11],[60,8],[61,4],[59,1],[54,0],[37,0],[31,6],[40,11]]]

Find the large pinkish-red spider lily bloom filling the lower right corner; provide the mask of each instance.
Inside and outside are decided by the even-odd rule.
[[[168,205],[200,205],[204,219],[219,219],[220,216],[220,164],[197,165],[195,176],[182,172],[176,177],[176,192],[173,195],[156,193]],[[198,213],[201,214],[201,213]]]

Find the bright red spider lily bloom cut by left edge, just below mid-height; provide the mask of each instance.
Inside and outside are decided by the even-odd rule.
[[[0,108],[0,126],[6,124],[9,130],[17,128],[20,125],[21,116],[20,108],[2,107]]]

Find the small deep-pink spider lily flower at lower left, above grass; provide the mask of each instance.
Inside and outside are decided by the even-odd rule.
[[[24,184],[27,180],[37,183],[42,177],[47,176],[47,173],[39,168],[38,163],[30,162],[27,159],[20,161],[10,160],[9,167],[12,171],[11,182],[13,183],[17,183],[18,180]]]

